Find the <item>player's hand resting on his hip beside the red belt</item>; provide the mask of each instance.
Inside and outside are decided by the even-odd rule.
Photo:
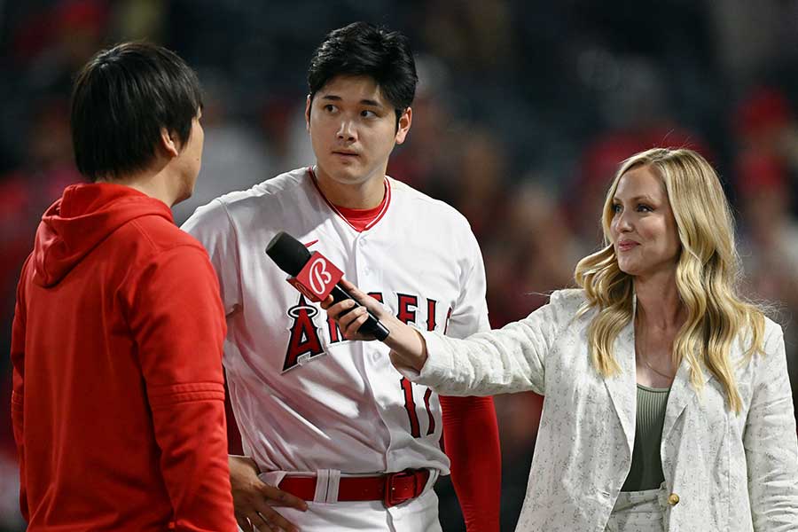
[[[252,458],[230,455],[228,464],[236,521],[242,530],[299,532],[299,528],[276,512],[272,506],[291,506],[304,512],[308,509],[305,501],[263,483],[258,478],[258,466]]]

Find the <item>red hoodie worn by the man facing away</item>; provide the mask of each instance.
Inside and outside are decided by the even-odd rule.
[[[30,532],[237,529],[224,334],[207,254],[164,203],[66,188],[39,224],[12,330]]]

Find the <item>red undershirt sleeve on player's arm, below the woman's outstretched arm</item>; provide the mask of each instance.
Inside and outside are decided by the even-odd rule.
[[[444,397],[443,438],[468,532],[497,532],[502,453],[493,397]]]

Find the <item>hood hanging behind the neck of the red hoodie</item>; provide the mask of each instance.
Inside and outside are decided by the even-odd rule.
[[[73,184],[36,230],[34,282],[54,286],[121,225],[156,215],[174,223],[166,203],[121,184]]]

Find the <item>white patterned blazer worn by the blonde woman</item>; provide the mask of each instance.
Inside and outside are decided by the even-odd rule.
[[[556,292],[520,322],[467,340],[423,332],[429,358],[420,374],[400,368],[446,395],[533,390],[545,396],[519,531],[603,531],[630,470],[634,326],[614,344],[622,373],[605,379],[588,353],[587,328],[596,311],[575,317],[584,301],[581,290]],[[686,362],[678,368],[660,447],[669,493],[666,530],[798,530],[798,439],[784,339],[771,320],[764,351],[737,371],[739,415],[729,411],[723,387],[708,371],[697,393]],[[731,356],[742,360],[742,346]]]

